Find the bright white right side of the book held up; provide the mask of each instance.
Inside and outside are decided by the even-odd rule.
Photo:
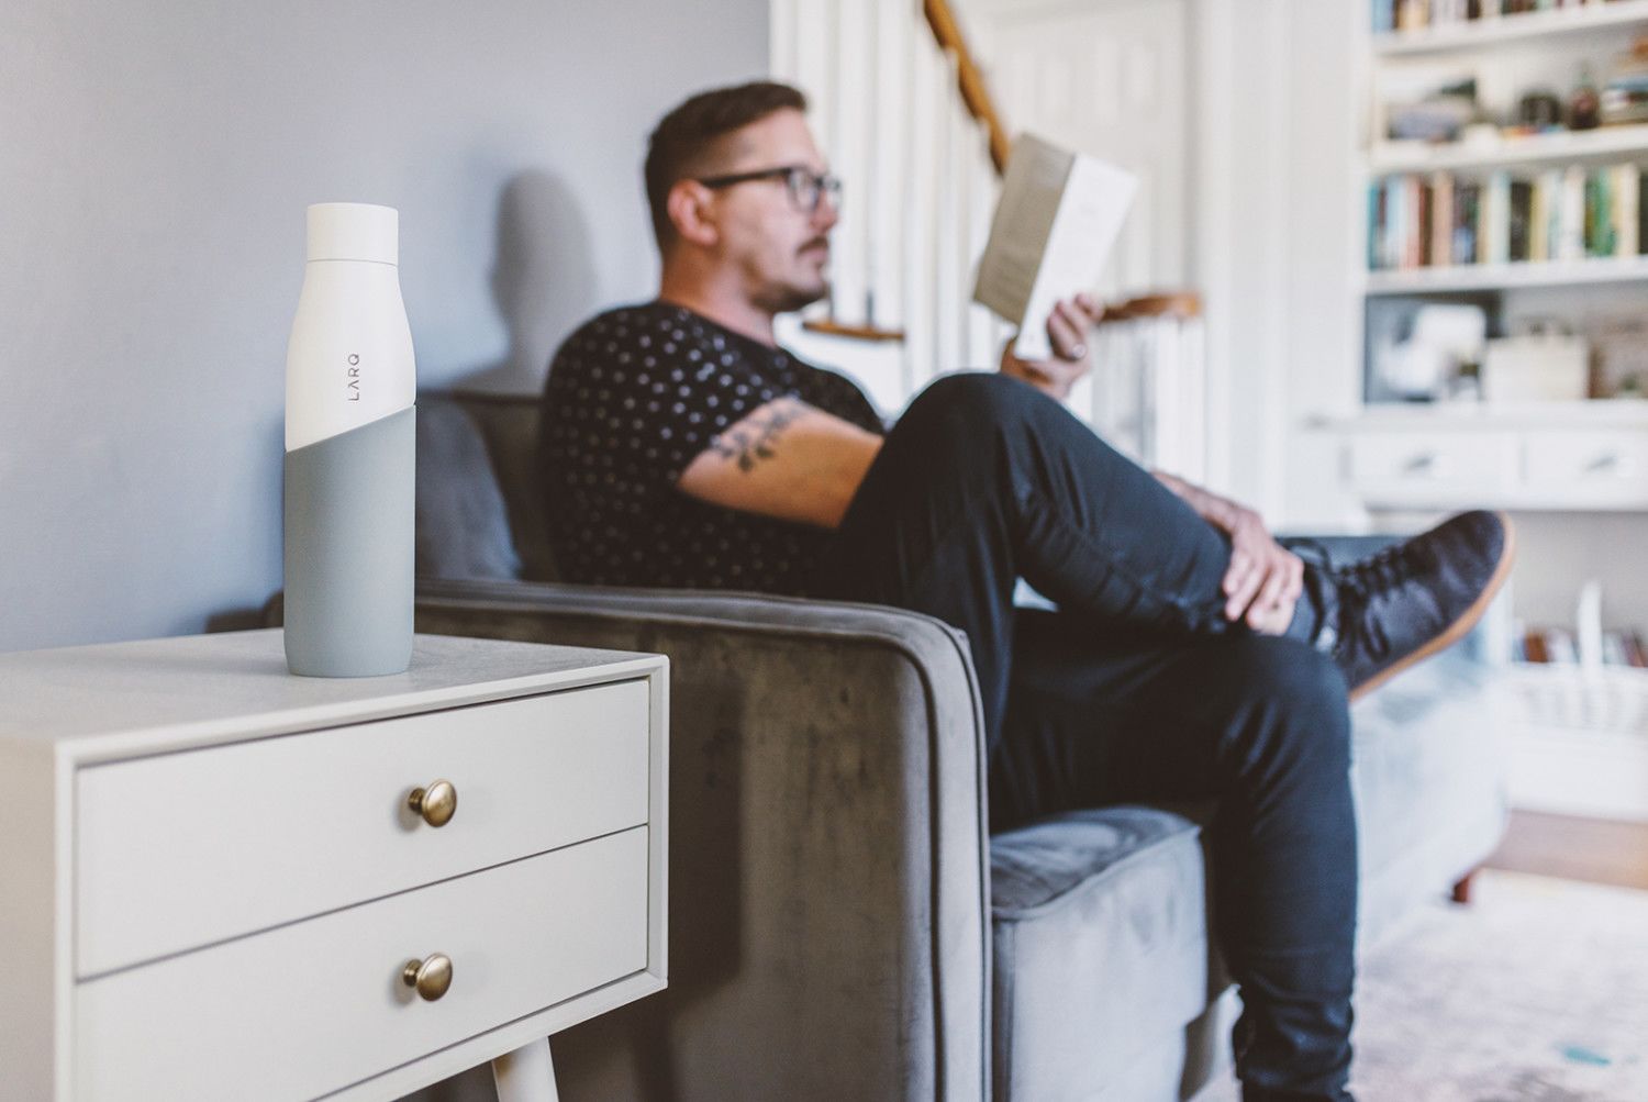
[[[1093,156],[1076,156],[1037,270],[1035,288],[1018,320],[1015,356],[1035,361],[1053,354],[1046,334],[1053,306],[1061,298],[1091,292],[1098,285],[1137,189],[1139,178],[1132,173]]]

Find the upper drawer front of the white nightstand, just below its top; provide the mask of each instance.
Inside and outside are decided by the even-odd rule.
[[[648,702],[634,680],[82,769],[76,975],[644,824]],[[440,829],[405,805],[435,779]]]

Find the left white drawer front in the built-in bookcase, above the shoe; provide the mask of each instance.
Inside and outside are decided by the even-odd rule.
[[[1455,504],[1516,486],[1515,433],[1378,432],[1351,440],[1351,479],[1369,504]]]

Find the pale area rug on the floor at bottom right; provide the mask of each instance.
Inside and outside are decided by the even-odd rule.
[[[1353,1043],[1358,1102],[1648,1102],[1648,891],[1483,873],[1366,955]]]

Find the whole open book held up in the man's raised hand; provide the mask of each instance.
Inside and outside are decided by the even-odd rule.
[[[1048,315],[1098,285],[1137,189],[1132,173],[1094,156],[1032,133],[1014,142],[972,300],[1018,326],[1015,356],[1053,354]]]

